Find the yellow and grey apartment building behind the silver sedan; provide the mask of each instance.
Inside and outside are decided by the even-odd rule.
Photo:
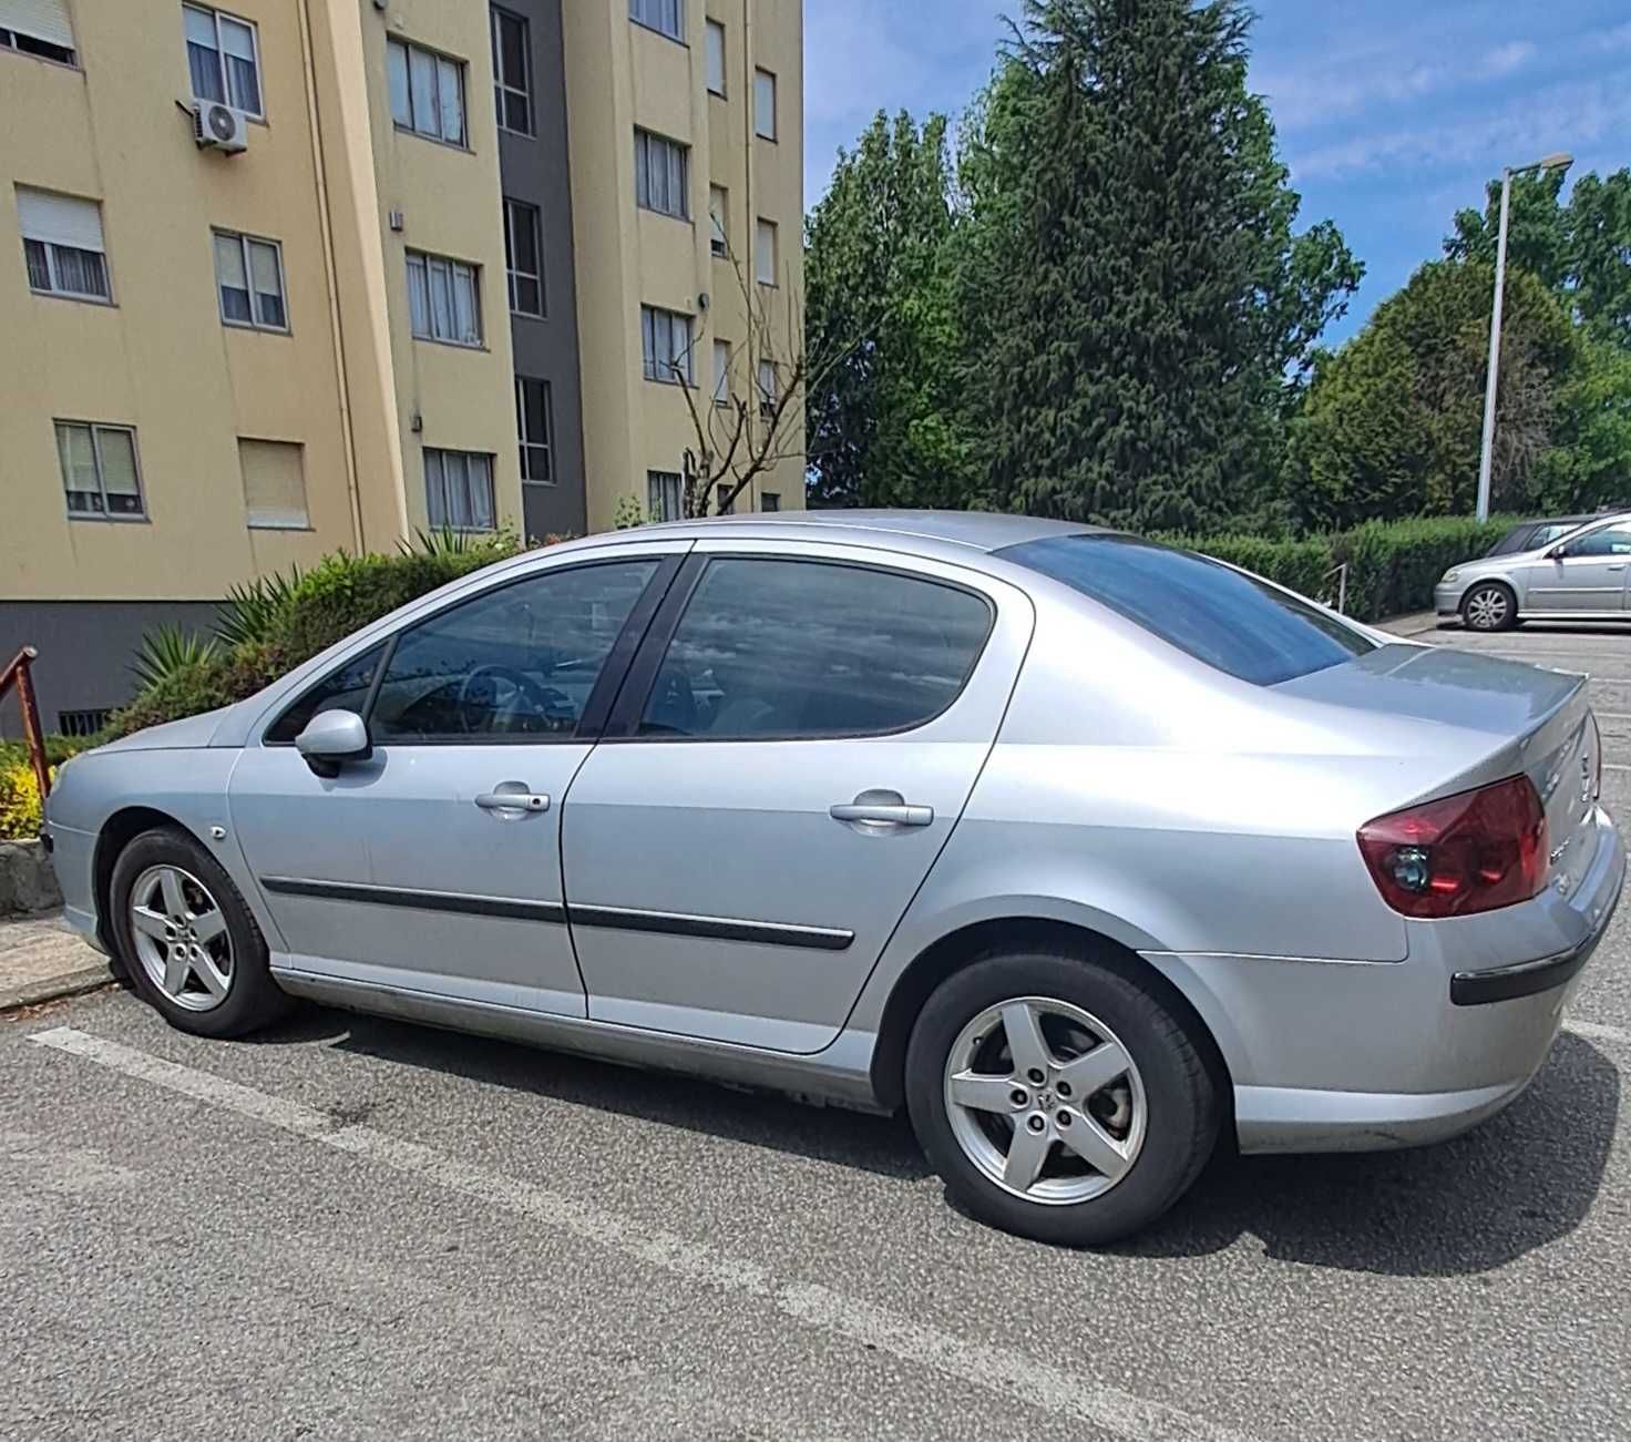
[[[643,343],[760,377],[734,266],[771,237],[802,297],[801,60],[798,0],[0,0],[0,651],[46,724],[253,576],[672,514]]]

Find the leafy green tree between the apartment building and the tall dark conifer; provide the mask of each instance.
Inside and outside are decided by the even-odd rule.
[[[843,357],[806,406],[812,504],[966,504],[951,243],[946,117],[879,111],[806,232],[811,344]]]

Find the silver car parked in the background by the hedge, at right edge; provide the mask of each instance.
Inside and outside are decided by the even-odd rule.
[[[1474,631],[1518,621],[1631,620],[1631,515],[1605,515],[1527,551],[1463,561],[1434,587],[1440,620]]]

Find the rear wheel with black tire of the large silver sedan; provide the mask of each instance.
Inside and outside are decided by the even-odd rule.
[[[1024,1021],[1013,1008],[1039,1020],[1049,1068],[1041,1086],[1014,1060],[1010,1018],[1021,1034]],[[1026,1042],[1021,1052],[1036,1055]],[[1093,1085],[1080,1067],[1068,1070],[1090,1054],[1106,1062],[1104,1073],[1120,1057],[1130,1067],[1088,1096],[1060,1086],[1070,1075]],[[954,1085],[980,1104],[956,1104]],[[1016,1104],[1021,1093],[1026,1101]],[[912,1028],[905,1095],[912,1129],[953,1202],[1005,1232],[1062,1246],[1101,1246],[1148,1227],[1200,1174],[1222,1116],[1205,1060],[1156,990],[1112,959],[1059,953],[997,953],[941,982]],[[1024,1179],[1024,1161],[1013,1173],[1003,1160],[1021,1129],[1036,1129],[1024,1158],[1042,1150],[1041,1171],[1023,1188],[1000,1179]],[[1111,1163],[1094,1166],[1086,1153]]]

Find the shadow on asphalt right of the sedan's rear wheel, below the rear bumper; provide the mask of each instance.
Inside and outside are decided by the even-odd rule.
[[[1434,1147],[1316,1157],[1220,1152],[1124,1256],[1222,1251],[1399,1277],[1486,1272],[1574,1232],[1608,1165],[1620,1073],[1577,1036],[1558,1037],[1507,1111]]]

